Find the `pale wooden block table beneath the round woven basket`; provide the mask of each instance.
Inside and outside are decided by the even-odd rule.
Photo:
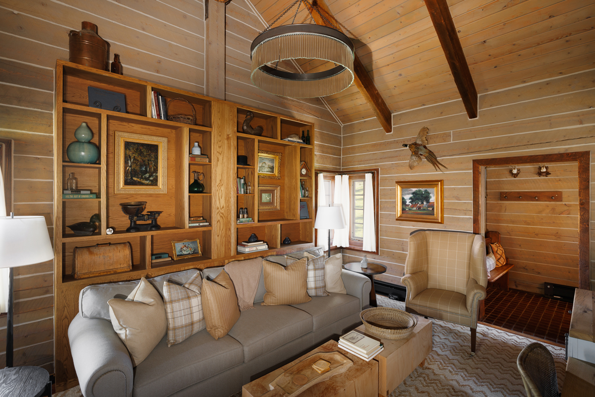
[[[378,361],[378,395],[388,396],[417,366],[423,367],[425,358],[432,351],[432,322],[417,316],[417,326],[405,339],[380,339],[384,350],[372,361]],[[365,326],[356,328],[365,332]]]

